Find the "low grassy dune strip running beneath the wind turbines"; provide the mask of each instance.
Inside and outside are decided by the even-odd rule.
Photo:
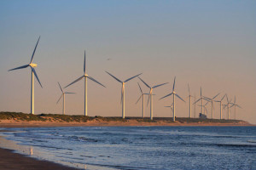
[[[16,122],[20,121],[41,121],[41,122],[88,122],[88,121],[102,121],[102,122],[129,122],[129,120],[136,120],[137,122],[167,122],[173,123],[172,117],[154,117],[154,120],[145,117],[102,117],[102,116],[69,116],[69,115],[58,115],[58,114],[40,114],[32,115],[21,112],[0,112],[1,120],[14,120]],[[187,118],[187,117],[177,117],[177,122],[181,123],[191,123],[191,122],[216,122],[216,123],[239,123],[244,122],[241,120],[218,120],[218,119],[201,119],[201,118]],[[246,123],[246,122],[245,122]]]

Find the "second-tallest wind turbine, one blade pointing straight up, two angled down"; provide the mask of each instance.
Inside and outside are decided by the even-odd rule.
[[[85,51],[84,51],[84,75],[82,77],[79,77],[77,80],[71,82],[68,84],[65,88],[72,85],[75,82],[79,82],[84,78],[84,116],[87,116],[87,78],[89,78],[91,81],[96,82],[97,84],[101,85],[102,87],[106,88],[101,82],[96,81],[93,77],[89,77],[86,74],[86,65],[85,65]]]

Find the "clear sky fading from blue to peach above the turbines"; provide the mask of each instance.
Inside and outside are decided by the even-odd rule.
[[[154,116],[171,116],[176,92],[176,115],[189,116],[190,91],[217,99],[227,94],[241,105],[236,118],[256,124],[256,1],[0,1],[0,111],[30,112],[31,71],[8,71],[33,62],[42,82],[35,81],[35,113],[61,114],[61,86],[87,73],[107,88],[88,80],[88,115],[121,116],[120,80],[143,73],[154,89]],[[125,84],[125,116],[142,116],[138,78]],[[84,114],[84,82],[65,88],[66,113]],[[226,102],[226,99],[224,100]],[[147,99],[145,102],[147,105]],[[200,107],[196,106],[196,116]],[[194,108],[193,108],[194,110]],[[227,118],[227,110],[223,112]],[[145,115],[149,116],[149,105]],[[207,105],[211,117],[211,105]],[[214,103],[219,118],[219,104]],[[234,108],[230,110],[234,118]]]

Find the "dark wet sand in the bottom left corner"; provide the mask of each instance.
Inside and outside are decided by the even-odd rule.
[[[77,168],[65,167],[50,161],[40,161],[32,157],[14,153],[13,150],[0,148],[0,169],[26,169],[26,170],[76,170]]]

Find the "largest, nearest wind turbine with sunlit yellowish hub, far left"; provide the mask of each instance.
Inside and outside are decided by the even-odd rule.
[[[38,42],[39,42],[39,40],[40,40],[40,37],[38,38]],[[37,64],[32,63],[32,60],[33,60],[33,58],[34,58],[34,54],[35,54],[36,49],[37,49],[37,47],[38,47],[38,42],[37,42],[37,44],[36,44],[36,47],[34,48],[34,51],[33,51],[33,53],[32,53],[32,58],[31,58],[30,63],[29,63],[28,65],[22,65],[22,66],[20,66],[20,67],[16,67],[16,68],[14,68],[14,69],[9,70],[9,71],[14,71],[14,70],[18,70],[18,69],[24,69],[24,68],[26,68],[26,67],[28,67],[28,66],[31,68],[31,107],[30,107],[30,108],[31,108],[31,110],[30,110],[30,113],[31,113],[31,114],[34,114],[34,75],[35,75],[35,77],[37,78],[37,80],[38,80],[38,82],[39,82],[41,88],[43,88],[41,82],[39,81],[37,72],[36,72],[36,70],[34,69],[35,67],[37,67]]]

